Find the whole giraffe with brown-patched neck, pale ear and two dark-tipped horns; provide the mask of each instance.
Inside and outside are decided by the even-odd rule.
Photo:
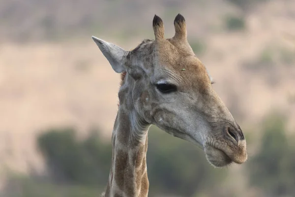
[[[121,73],[104,197],[148,196],[151,125],[198,145],[215,167],[247,160],[243,132],[190,47],[184,17],[176,16],[172,38],[164,37],[164,24],[157,15],[152,25],[155,39],[145,39],[131,51],[92,36],[114,71]]]

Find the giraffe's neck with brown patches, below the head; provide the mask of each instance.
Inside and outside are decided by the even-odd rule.
[[[134,109],[120,105],[113,134],[112,165],[105,197],[147,197],[146,155],[149,125],[140,121]]]

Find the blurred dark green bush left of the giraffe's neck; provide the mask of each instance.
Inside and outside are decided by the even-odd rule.
[[[38,145],[56,181],[90,185],[107,182],[112,149],[101,142],[97,131],[78,141],[73,129],[53,129],[39,136]]]

